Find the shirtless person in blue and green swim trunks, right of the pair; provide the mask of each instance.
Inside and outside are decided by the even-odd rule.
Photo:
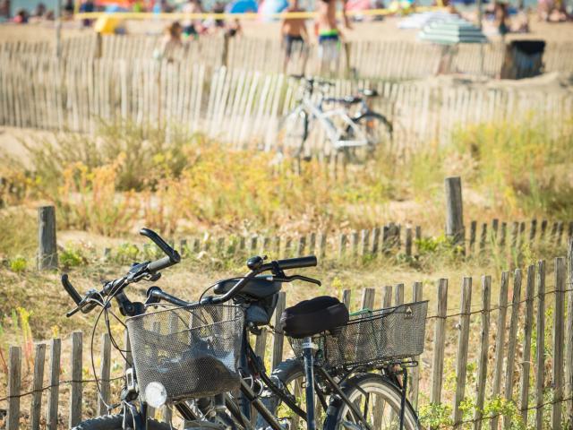
[[[346,16],[346,1],[340,0],[342,4],[342,19],[346,29],[351,29],[350,22]],[[337,3],[338,0],[318,0],[316,5],[316,21],[314,31],[319,39],[319,58],[321,60],[321,73],[330,68],[331,63],[338,59],[342,32],[338,29],[337,23]]]

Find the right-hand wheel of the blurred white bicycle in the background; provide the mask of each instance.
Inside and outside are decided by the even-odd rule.
[[[346,158],[355,163],[364,163],[368,159],[372,159],[372,152],[376,148],[382,146],[389,147],[392,142],[392,124],[386,119],[375,112],[366,112],[361,116],[353,118],[355,126],[363,133],[366,138],[367,144],[364,146],[344,148]],[[346,139],[353,140],[355,136],[355,129],[348,125],[346,128]]]

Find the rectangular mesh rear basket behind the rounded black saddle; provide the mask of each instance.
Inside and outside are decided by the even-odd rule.
[[[398,305],[350,316],[336,333],[312,337],[327,365],[356,366],[422,354],[428,302]],[[303,339],[289,339],[295,356],[303,357]]]

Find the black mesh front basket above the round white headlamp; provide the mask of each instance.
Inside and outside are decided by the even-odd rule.
[[[142,396],[152,382],[165,386],[168,400],[238,388],[244,324],[239,306],[176,307],[126,323]]]

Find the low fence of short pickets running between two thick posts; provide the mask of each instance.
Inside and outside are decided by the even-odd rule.
[[[272,258],[288,258],[295,255],[315,254],[321,260],[348,261],[352,258],[370,260],[377,255],[417,258],[432,254],[429,249],[439,244],[439,231],[423,236],[420,226],[401,226],[390,222],[381,227],[343,232],[313,232],[310,234],[265,236],[250,233],[236,236],[220,236],[205,233],[198,236],[168,240],[179,253],[196,258],[208,254],[222,259],[239,259],[261,254]],[[543,246],[560,249],[573,238],[573,221],[537,219],[526,221],[491,222],[470,221],[465,240],[458,246],[460,253],[468,257],[496,255],[500,261],[518,262],[521,254]],[[428,244],[428,245],[425,245]],[[136,245],[133,245],[136,246]],[[525,247],[528,248],[526,251]],[[162,255],[153,245],[142,245],[138,252],[144,256]],[[104,259],[121,254],[117,248],[105,248]]]

